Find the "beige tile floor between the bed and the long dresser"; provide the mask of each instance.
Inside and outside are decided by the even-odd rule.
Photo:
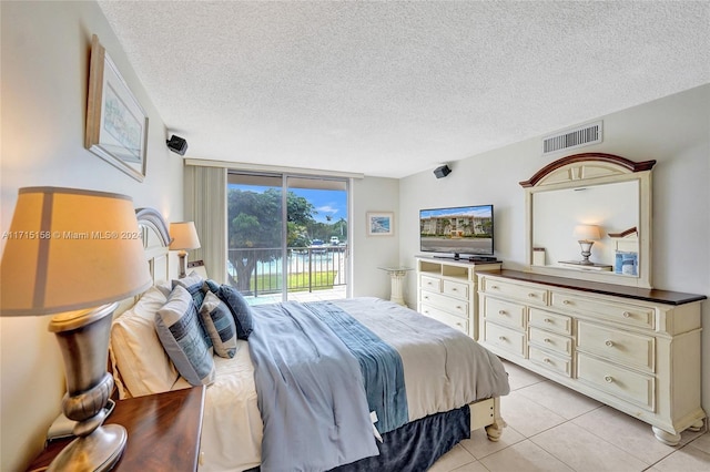
[[[682,433],[677,447],[651,427],[544,377],[505,362],[510,394],[499,442],[471,433],[429,472],[692,472],[710,471],[710,433]]]

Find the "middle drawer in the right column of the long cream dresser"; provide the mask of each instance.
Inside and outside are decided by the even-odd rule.
[[[625,366],[655,370],[655,339],[586,321],[577,325],[577,348]]]

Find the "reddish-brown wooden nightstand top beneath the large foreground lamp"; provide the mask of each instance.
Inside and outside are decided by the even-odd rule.
[[[128,445],[113,471],[196,471],[204,387],[120,400],[106,424],[123,425]],[[51,442],[28,471],[43,471],[71,439]]]

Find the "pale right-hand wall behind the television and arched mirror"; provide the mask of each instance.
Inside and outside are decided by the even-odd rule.
[[[604,152],[631,161],[657,161],[652,172],[653,286],[710,296],[710,84],[601,119],[604,142],[569,154]],[[525,268],[525,192],[518,182],[565,155],[544,157],[540,148],[540,138],[527,140],[450,164],[453,173],[446,178],[436,179],[430,172],[403,178],[400,263],[414,264],[418,254],[420,208],[491,203],[496,255],[506,268]],[[414,306],[414,277],[407,285],[407,301]],[[710,359],[707,300],[702,320],[702,358]],[[702,404],[710,412],[710,362],[702,367]]]

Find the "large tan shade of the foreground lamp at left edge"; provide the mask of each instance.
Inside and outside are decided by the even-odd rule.
[[[0,315],[51,315],[98,307],[150,287],[131,197],[28,187],[0,264]]]

